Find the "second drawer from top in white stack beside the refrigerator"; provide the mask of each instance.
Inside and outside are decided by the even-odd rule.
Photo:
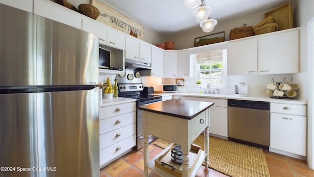
[[[127,113],[124,115],[105,118],[99,121],[99,133],[100,135],[116,130],[118,128],[130,125],[136,122],[135,112]]]

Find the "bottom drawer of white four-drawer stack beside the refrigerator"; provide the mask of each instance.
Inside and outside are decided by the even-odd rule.
[[[123,141],[120,141],[116,144],[113,144],[107,148],[100,150],[100,166],[108,162],[109,160],[113,159],[114,157],[122,154],[123,152],[127,151],[128,149],[134,147],[136,144],[136,136],[133,135]]]

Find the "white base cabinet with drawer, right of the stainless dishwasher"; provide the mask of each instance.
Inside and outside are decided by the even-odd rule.
[[[306,156],[306,105],[271,103],[270,112],[270,148]]]

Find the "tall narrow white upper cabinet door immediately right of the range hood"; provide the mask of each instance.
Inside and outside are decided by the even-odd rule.
[[[163,77],[163,50],[152,47],[152,71],[151,76]]]

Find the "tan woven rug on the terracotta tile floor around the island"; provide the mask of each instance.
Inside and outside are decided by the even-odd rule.
[[[198,136],[193,143],[204,150],[204,135]],[[160,138],[154,143],[160,148],[170,144]],[[209,168],[231,177],[270,177],[262,148],[212,136],[209,136]]]

